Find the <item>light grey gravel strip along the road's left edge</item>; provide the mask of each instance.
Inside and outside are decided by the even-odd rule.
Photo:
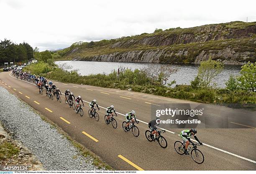
[[[102,163],[97,157],[88,151],[81,152],[79,144],[72,143],[70,138],[42,120],[31,106],[3,87],[0,87],[0,94],[0,121],[14,139],[20,140],[37,156],[46,170],[106,170],[94,165]]]

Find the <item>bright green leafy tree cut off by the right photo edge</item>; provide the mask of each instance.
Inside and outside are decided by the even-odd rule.
[[[256,65],[250,63],[250,61],[241,67],[238,81],[241,83],[241,87],[244,90],[254,91],[256,89]]]

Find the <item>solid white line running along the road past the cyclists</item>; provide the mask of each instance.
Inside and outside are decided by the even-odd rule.
[[[10,73],[10,74],[11,74],[11,73]],[[9,74],[9,75],[10,75],[10,74]],[[10,75],[10,77],[12,77],[12,76]],[[15,77],[13,77],[13,78],[14,78],[14,79],[17,79],[17,78],[15,78]],[[20,80],[20,79],[18,79],[18,80]],[[26,81],[24,81],[24,80],[21,80],[21,81],[26,82]],[[33,84],[33,83],[31,83],[31,82],[27,82],[27,83]],[[36,84],[33,84],[33,85],[36,85]],[[61,93],[61,94],[64,94],[64,93]],[[85,100],[83,100],[83,101],[84,101],[84,102],[87,102],[87,101],[85,101]],[[87,103],[90,103],[90,102],[87,102]],[[101,108],[103,108],[103,109],[107,109],[107,108],[102,107],[102,106],[99,106],[99,107],[101,107]],[[116,112],[116,113],[118,113],[118,112]],[[122,114],[122,113],[118,113],[118,114],[125,116],[125,115]],[[142,121],[142,120],[139,120],[139,121],[148,125],[148,123],[146,123],[145,121]],[[166,129],[164,129],[164,128],[161,128],[161,129],[162,129],[162,130],[165,130],[166,132],[176,134],[175,132],[172,132],[172,131],[170,131],[170,130],[166,130]],[[178,135],[178,134],[177,134],[177,135]],[[178,136],[179,136],[179,135],[178,135]],[[192,141],[195,141],[195,140],[192,139],[192,138],[190,138],[190,139],[191,139]],[[207,147],[213,148],[213,149],[215,149],[215,150],[224,152],[224,153],[226,153],[226,154],[230,154],[230,155],[232,155],[232,156],[236,156],[236,157],[238,157],[238,158],[240,158],[240,159],[243,159],[243,160],[246,160],[246,161],[250,161],[250,162],[256,164],[256,161],[253,161],[253,160],[251,160],[251,159],[248,159],[248,158],[245,158],[245,157],[243,157],[243,156],[239,156],[239,155],[233,154],[233,153],[228,152],[228,151],[224,151],[224,150],[222,150],[222,149],[220,149],[220,148],[217,148],[217,147],[214,147],[214,146],[205,144],[205,143],[203,143],[203,144],[204,144],[205,146],[207,146]]]

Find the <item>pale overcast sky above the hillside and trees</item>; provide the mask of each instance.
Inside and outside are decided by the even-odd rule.
[[[155,28],[256,21],[256,0],[0,0],[0,40],[40,51]]]

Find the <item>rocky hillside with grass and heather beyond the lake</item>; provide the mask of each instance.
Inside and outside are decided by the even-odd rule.
[[[97,42],[77,42],[61,52],[63,59],[200,63],[211,57],[224,64],[256,61],[256,22],[240,21],[193,28],[170,28]]]

